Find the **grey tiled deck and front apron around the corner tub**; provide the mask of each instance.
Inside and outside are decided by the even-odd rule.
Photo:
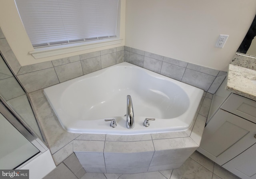
[[[102,165],[100,165],[101,167],[88,167],[88,163],[85,163],[83,167],[86,169],[86,172],[98,173],[105,172],[105,170],[108,173],[113,173],[111,167],[116,166],[103,165],[103,162],[105,161],[106,163],[110,162],[108,159],[109,157],[111,158],[111,155],[114,158],[122,155],[124,157],[133,156],[134,158],[141,159],[141,156],[144,156],[141,155],[141,152],[150,154],[149,156],[151,159],[152,157],[154,158],[154,160],[152,160],[153,163],[147,163],[146,167],[143,166],[136,169],[131,168],[131,170],[129,170],[131,173],[158,171],[179,167],[181,165],[180,162],[185,161],[186,158],[200,145],[211,101],[210,98],[205,97],[204,93],[197,113],[194,116],[193,123],[186,131],[144,135],[108,135],[69,133],[60,125],[58,118],[44,96],[43,90],[29,93],[29,96],[55,164],[59,165],[72,153],[80,153],[80,155],[84,153],[84,155],[88,154],[88,156],[92,156],[96,153],[97,158],[94,159],[102,162]],[[124,146],[124,148],[121,146]],[[146,148],[144,146],[146,146]],[[180,152],[175,154],[177,149],[180,149],[178,150]],[[159,161],[163,159],[160,156],[170,156],[170,153],[174,154],[171,156],[180,156],[181,160],[178,161],[172,159],[172,163],[167,163],[166,160],[163,163],[159,163]],[[106,157],[104,158],[103,156]],[[127,165],[128,164],[126,163],[126,166]],[[119,169],[119,172],[124,172],[122,167],[119,167]],[[115,170],[115,173],[116,172],[118,171]]]

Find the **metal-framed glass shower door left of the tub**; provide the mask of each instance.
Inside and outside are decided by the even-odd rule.
[[[16,169],[48,148],[29,98],[0,54],[0,169]]]

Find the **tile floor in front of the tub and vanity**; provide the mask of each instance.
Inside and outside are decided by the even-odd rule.
[[[179,169],[136,174],[86,173],[81,179],[240,179],[195,151]]]

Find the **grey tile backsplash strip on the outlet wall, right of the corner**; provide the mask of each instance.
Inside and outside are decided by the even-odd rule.
[[[223,71],[190,64],[127,46],[124,47],[124,62],[146,68],[212,94],[218,90],[226,77],[226,72]]]

